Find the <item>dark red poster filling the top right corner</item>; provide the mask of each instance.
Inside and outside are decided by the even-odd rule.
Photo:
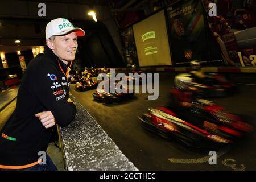
[[[256,65],[256,1],[203,0],[210,31],[226,64]],[[216,16],[209,16],[215,3]]]

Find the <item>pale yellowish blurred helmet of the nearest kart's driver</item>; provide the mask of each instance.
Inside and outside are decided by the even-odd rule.
[[[189,85],[192,82],[192,77],[188,73],[182,73],[174,78],[174,85],[182,90],[188,89]]]

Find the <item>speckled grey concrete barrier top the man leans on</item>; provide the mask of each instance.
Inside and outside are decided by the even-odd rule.
[[[74,121],[60,127],[65,168],[73,170],[137,171],[96,120],[72,95],[77,113]]]

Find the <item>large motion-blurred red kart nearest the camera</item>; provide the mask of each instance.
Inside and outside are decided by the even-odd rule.
[[[193,102],[189,116],[172,106],[159,106],[138,118],[146,129],[196,148],[225,146],[253,130],[243,118],[208,100]]]

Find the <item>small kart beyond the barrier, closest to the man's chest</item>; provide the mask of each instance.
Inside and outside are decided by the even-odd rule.
[[[98,82],[93,81],[92,78],[82,77],[79,82],[76,82],[75,90],[76,91],[86,91],[91,89],[96,89]]]

